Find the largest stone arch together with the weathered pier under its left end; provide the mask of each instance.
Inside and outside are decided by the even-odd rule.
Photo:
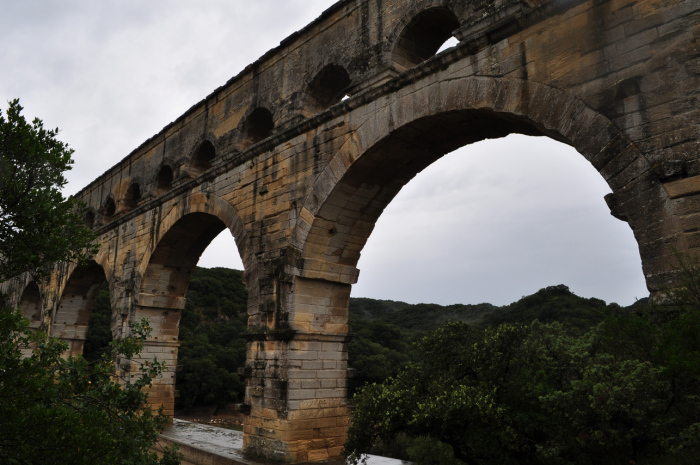
[[[290,238],[298,254],[285,320],[293,337],[260,335],[261,342],[249,346],[248,366],[257,383],[250,381],[247,392],[253,410],[244,448],[250,452],[299,460],[338,453],[347,425],[348,305],[360,252],[401,187],[444,154],[509,133],[554,138],[576,148],[608,182],[608,203],[632,227],[645,271],[658,269],[648,263],[667,253],[658,240],[668,240],[668,231],[679,237],[673,236],[674,220],[663,213],[668,195],[647,175],[651,166],[644,154],[605,116],[551,86],[447,78],[407,86],[345,121],[351,131],[299,203]],[[640,205],[646,211],[638,211]],[[654,290],[649,274],[647,282]],[[304,441],[317,430],[323,440],[308,449]]]

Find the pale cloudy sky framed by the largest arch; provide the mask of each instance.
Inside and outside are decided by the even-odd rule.
[[[354,297],[508,305],[566,285],[626,306],[648,296],[631,228],[573,149],[511,134],[445,155],[392,199],[362,250]]]

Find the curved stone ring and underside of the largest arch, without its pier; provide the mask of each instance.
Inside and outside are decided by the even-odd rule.
[[[640,196],[668,199],[656,179],[644,176],[651,168],[644,154],[571,93],[522,79],[489,77],[401,90],[358,125],[301,203],[293,240],[304,258],[302,274],[354,283],[359,273],[355,265],[374,223],[408,180],[458,147],[511,132],[549,136],[591,162],[613,190],[606,199],[613,213],[629,222],[640,242],[650,290],[658,290],[648,274],[654,268],[647,263],[658,255],[642,247],[658,237],[648,235],[650,218],[626,209]],[[413,166],[403,167],[408,159]]]

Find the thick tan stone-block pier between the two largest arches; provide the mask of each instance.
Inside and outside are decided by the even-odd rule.
[[[341,277],[306,265],[275,276],[268,304],[249,320],[244,451],[291,463],[339,456],[348,427],[347,318],[357,270],[345,267]]]

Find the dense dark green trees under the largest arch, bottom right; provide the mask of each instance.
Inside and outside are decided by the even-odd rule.
[[[700,377],[686,362],[697,343],[664,349],[679,318],[612,316],[583,336],[537,321],[446,325],[406,370],[355,396],[346,454],[358,463],[405,435],[465,464],[696,463]]]

